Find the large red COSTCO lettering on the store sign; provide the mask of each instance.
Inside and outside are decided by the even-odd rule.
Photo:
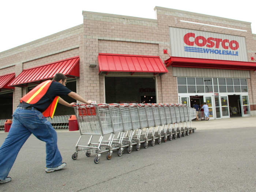
[[[189,38],[192,37],[190,40]],[[207,46],[208,48],[219,48],[219,45],[221,44],[223,49],[232,49],[237,50],[239,48],[239,43],[236,40],[230,41],[229,39],[219,39],[219,38],[205,38],[203,36],[197,36],[195,33],[187,33],[184,35],[184,43],[189,46],[193,46],[196,44],[199,47]],[[228,45],[227,45],[228,44]]]

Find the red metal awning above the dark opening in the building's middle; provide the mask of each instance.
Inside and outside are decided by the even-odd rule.
[[[158,56],[99,53],[99,74],[111,72],[148,72],[163,75],[167,69]]]

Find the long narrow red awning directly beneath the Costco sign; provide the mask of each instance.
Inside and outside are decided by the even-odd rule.
[[[170,57],[165,60],[166,67],[189,67],[208,69],[256,70],[256,63],[244,61],[226,61],[215,59],[197,59],[187,57]]]

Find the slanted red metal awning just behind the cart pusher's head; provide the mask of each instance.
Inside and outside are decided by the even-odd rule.
[[[79,77],[79,56],[24,69],[9,86],[26,87],[28,83],[41,83],[62,73],[68,77]]]

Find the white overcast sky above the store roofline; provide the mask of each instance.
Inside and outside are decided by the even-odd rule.
[[[2,0],[0,52],[82,24],[82,11],[155,19],[155,6],[251,22],[256,34],[256,0]]]

